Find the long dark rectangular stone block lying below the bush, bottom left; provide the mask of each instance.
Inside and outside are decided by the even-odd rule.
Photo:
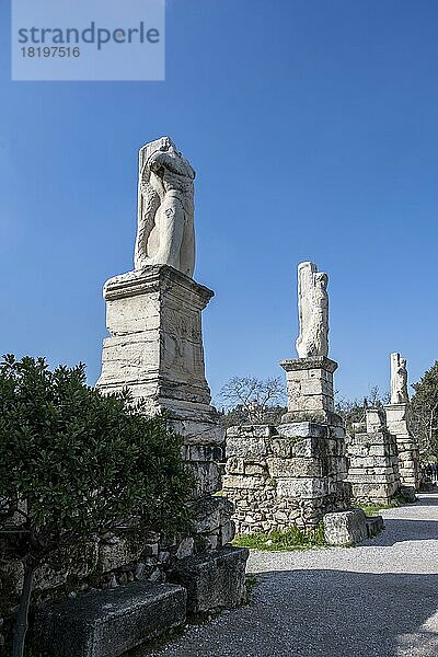
[[[35,637],[57,657],[118,657],[185,618],[183,587],[136,581],[39,609]]]

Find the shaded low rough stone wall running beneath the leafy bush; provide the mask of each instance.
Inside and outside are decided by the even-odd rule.
[[[120,529],[74,550],[55,553],[47,565],[36,570],[33,600],[35,603],[57,601],[135,580],[169,581],[182,560],[221,549],[233,539],[232,510],[224,497],[209,496],[196,502],[192,535],[169,537],[163,532]],[[0,629],[3,619],[8,627],[22,581],[21,562],[0,566]],[[1,641],[0,633],[0,645]]]

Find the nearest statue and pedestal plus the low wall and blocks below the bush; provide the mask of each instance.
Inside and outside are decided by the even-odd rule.
[[[110,337],[96,385],[104,393],[127,388],[141,401],[140,412],[164,413],[183,437],[183,457],[197,483],[194,522],[189,535],[176,537],[120,528],[117,535],[90,541],[74,566],[67,560],[38,570],[36,596],[47,599],[72,574],[78,583],[92,575],[93,586],[105,589],[88,593],[81,604],[71,600],[38,611],[39,644],[56,645],[59,656],[67,625],[78,654],[113,657],[181,625],[187,613],[233,608],[245,597],[249,552],[229,545],[233,506],[214,495],[224,430],[210,404],[204,365],[201,311],[214,292],[192,278],[195,172],[169,137],[145,146],[139,162],[136,268],[104,286]],[[13,573],[12,588],[21,577],[20,569]]]

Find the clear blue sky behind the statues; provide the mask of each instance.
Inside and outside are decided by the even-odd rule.
[[[165,82],[11,82],[0,0],[0,350],[100,372],[131,268],[138,148],[197,170],[212,392],[295,357],[296,267],[330,274],[336,387],[438,357],[436,0],[169,0]]]

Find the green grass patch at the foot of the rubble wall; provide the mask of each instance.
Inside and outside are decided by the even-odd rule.
[[[325,548],[327,543],[324,540],[324,527],[320,522],[315,529],[309,532],[290,527],[289,529],[275,529],[269,533],[257,531],[252,534],[240,534],[233,540],[233,545],[277,552]]]

